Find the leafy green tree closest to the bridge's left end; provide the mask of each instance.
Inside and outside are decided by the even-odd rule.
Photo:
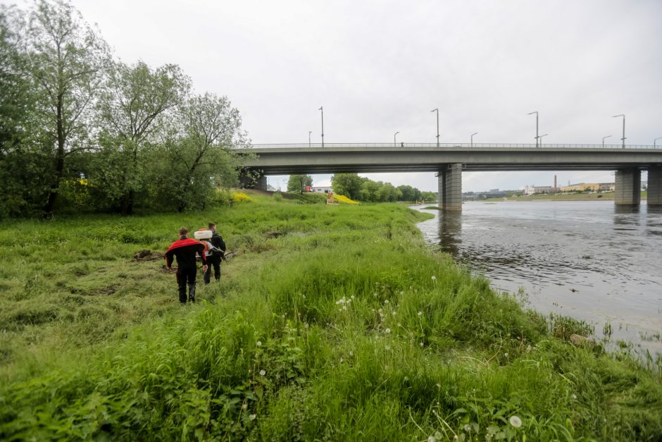
[[[190,97],[179,110],[183,136],[165,144],[168,173],[158,173],[157,191],[183,211],[204,207],[216,187],[234,185],[245,156],[233,147],[250,145],[239,110],[227,97]]]

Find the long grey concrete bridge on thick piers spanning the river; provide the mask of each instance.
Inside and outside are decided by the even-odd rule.
[[[521,145],[316,143],[253,145],[249,170],[266,176],[315,173],[435,172],[439,207],[461,210],[462,171],[616,171],[616,204],[640,202],[641,171],[648,171],[648,204],[662,206],[662,147],[647,145]]]

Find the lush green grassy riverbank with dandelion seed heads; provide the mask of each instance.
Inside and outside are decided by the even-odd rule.
[[[201,213],[1,224],[2,440],[660,440],[659,360],[575,348],[427,250],[401,204],[251,195]],[[161,260],[237,257],[178,305]]]

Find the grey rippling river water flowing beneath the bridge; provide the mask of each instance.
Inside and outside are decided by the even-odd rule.
[[[582,319],[611,342],[662,353],[662,210],[598,202],[466,202],[418,227],[499,291],[523,288],[531,307]]]

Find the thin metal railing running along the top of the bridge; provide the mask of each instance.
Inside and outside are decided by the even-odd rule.
[[[244,146],[235,146],[237,149]],[[247,146],[246,146],[247,147]],[[251,145],[254,149],[285,149],[285,148],[306,148],[306,147],[322,147],[321,143],[283,143],[283,144],[258,144]],[[394,143],[387,142],[342,142],[342,143],[324,143],[324,147],[437,147],[437,143],[420,143],[420,142],[405,142]],[[623,145],[551,145],[544,144],[536,147],[535,144],[512,144],[512,143],[439,143],[439,148],[444,147],[506,147],[506,148],[520,148],[520,149],[621,149]],[[662,146],[653,145],[625,145],[625,149],[662,149]]]

